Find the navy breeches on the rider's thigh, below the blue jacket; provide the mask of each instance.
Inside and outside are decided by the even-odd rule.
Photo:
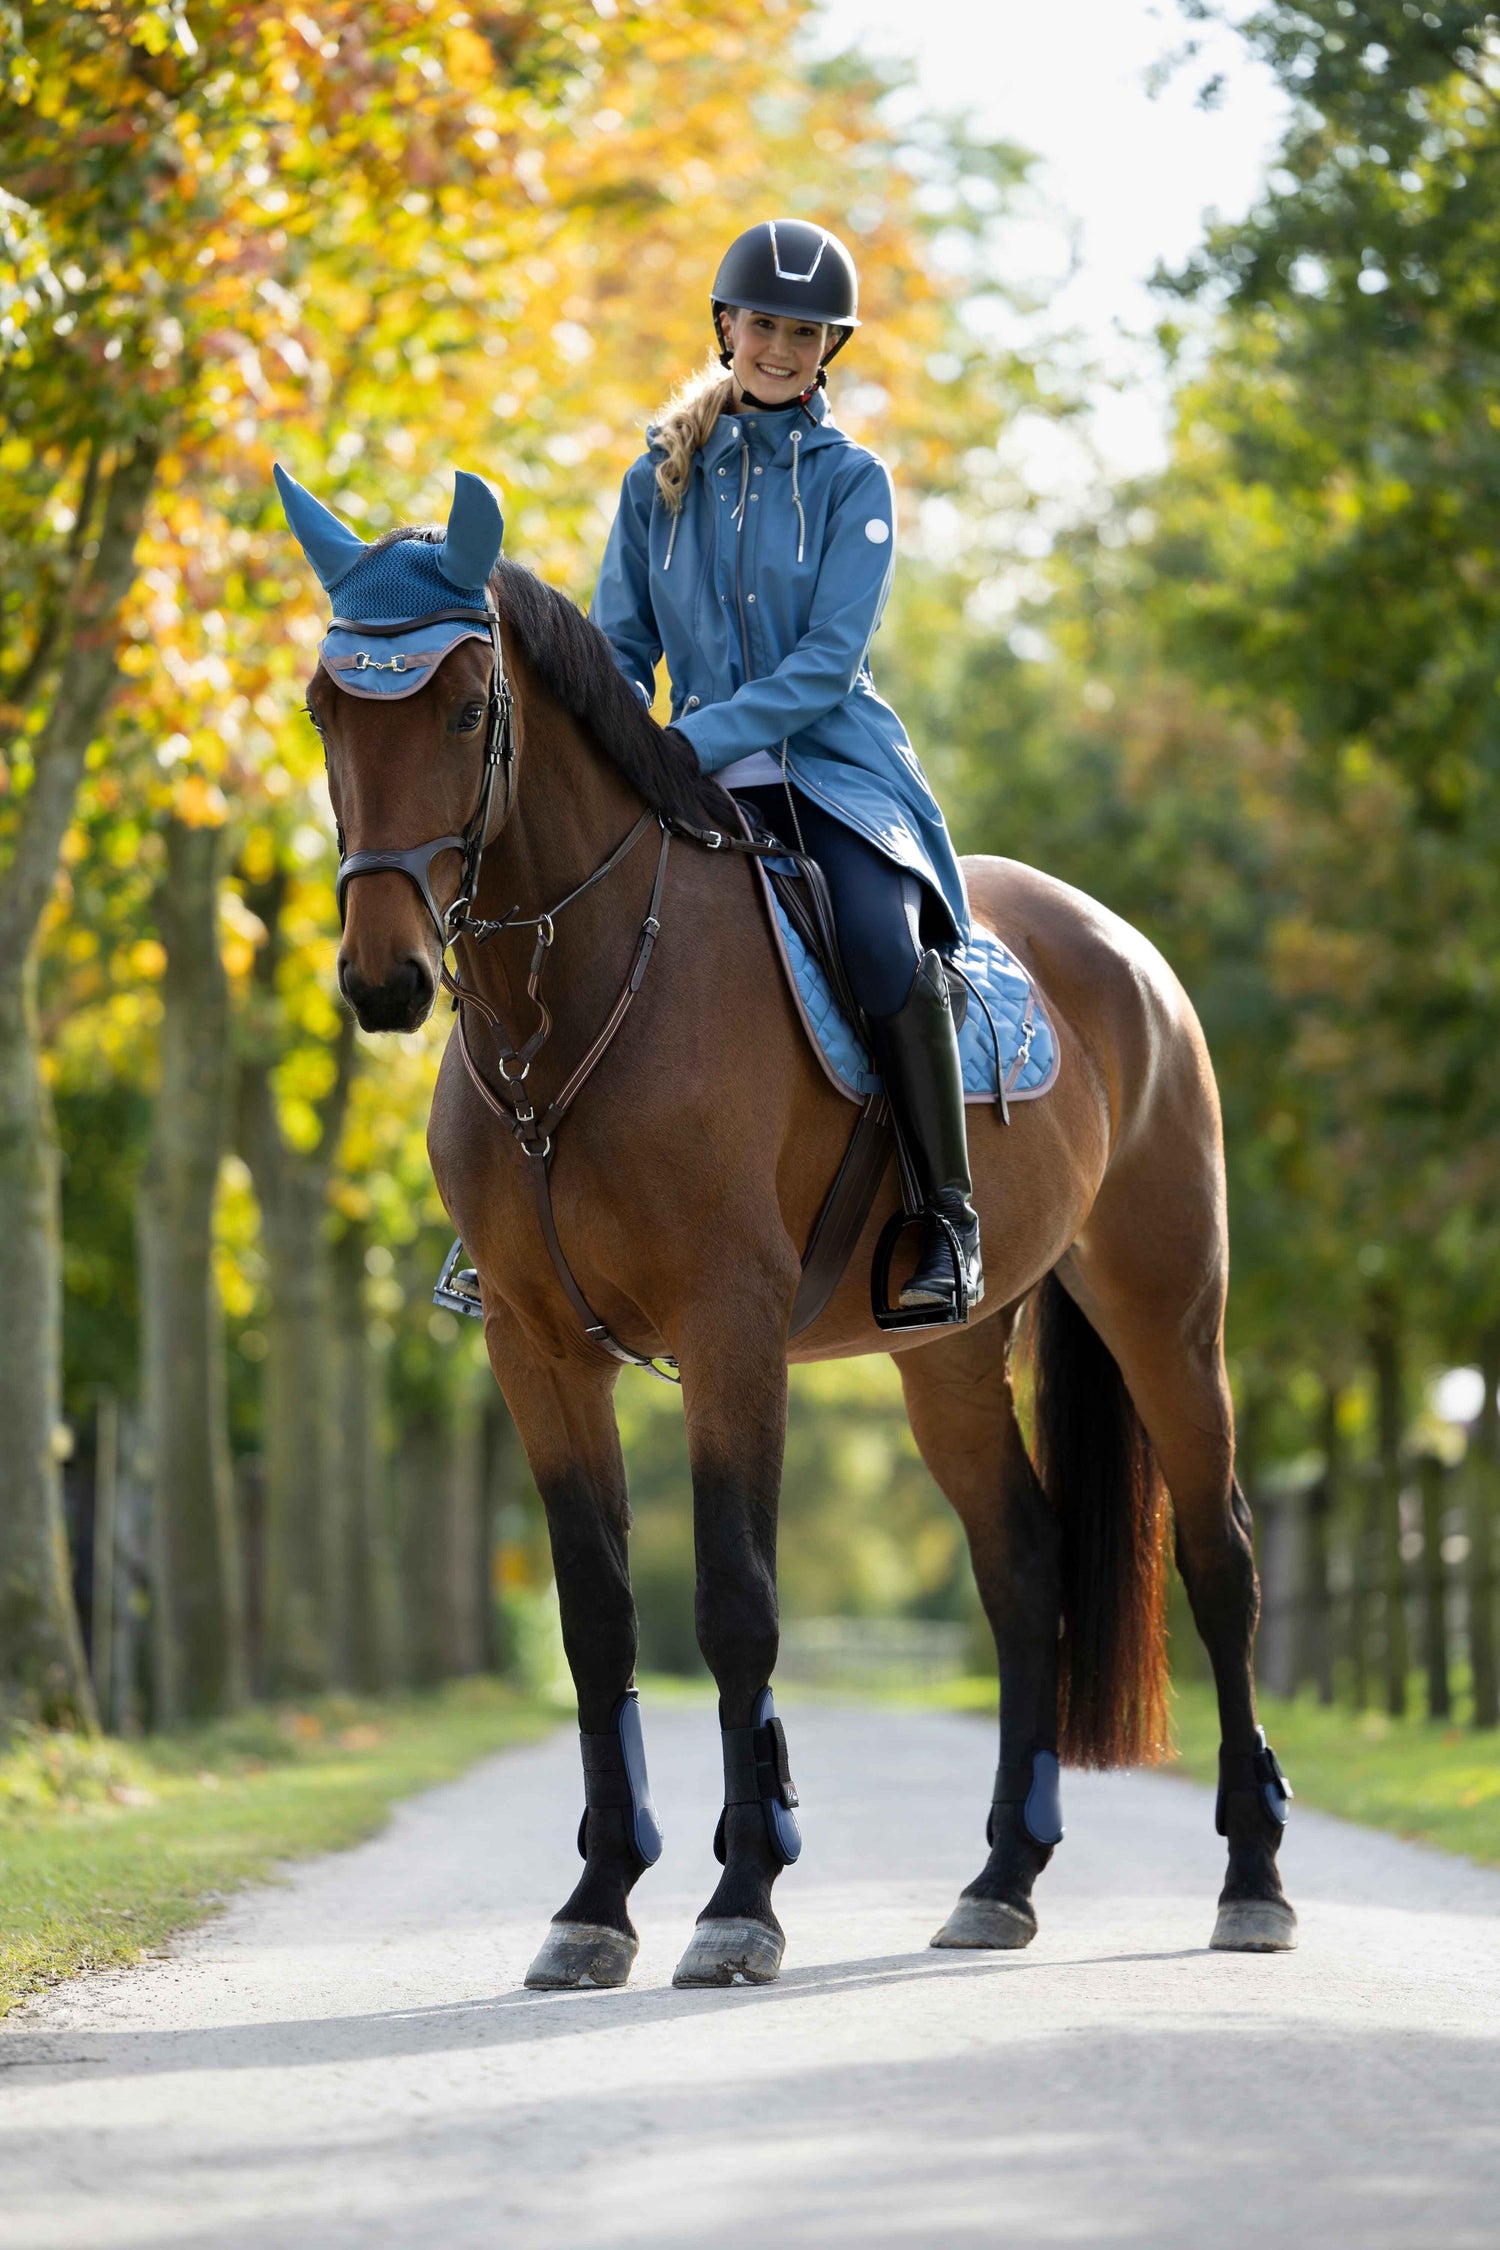
[[[866,1015],[895,1015],[911,992],[922,958],[922,884],[884,853],[825,812],[803,790],[762,783],[735,790],[785,844],[807,850],[828,880],[839,929],[839,952]],[[787,796],[796,824],[787,810]],[[801,839],[798,830],[801,828]]]

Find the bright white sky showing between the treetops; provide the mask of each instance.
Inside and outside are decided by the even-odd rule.
[[[1001,250],[1021,281],[1073,277],[1046,324],[1073,328],[1104,380],[1091,432],[1104,479],[1156,468],[1167,385],[1149,331],[1154,266],[1181,263],[1203,218],[1241,216],[1275,146],[1284,104],[1228,29],[1187,25],[1176,0],[823,0],[828,47],[915,63],[922,97],[1034,151],[1021,218]],[[1192,38],[1203,47],[1151,97],[1147,72]],[[1223,72],[1223,99],[1196,94]],[[1064,436],[1034,434],[1032,479],[1066,497],[1091,468]]]

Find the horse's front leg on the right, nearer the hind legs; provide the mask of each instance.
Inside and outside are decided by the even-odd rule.
[[[717,1681],[724,1746],[724,1811],[715,1832],[724,1874],[697,1917],[675,1984],[769,1984],[785,1951],[771,1883],[796,1858],[801,1834],[769,1683],[778,1647],[787,1303],[789,1289],[783,1300],[769,1282],[758,1292],[744,1280],[733,1305],[699,1307],[681,1323],[697,1645]]]

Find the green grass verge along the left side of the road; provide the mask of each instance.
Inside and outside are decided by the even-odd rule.
[[[0,1757],[0,2016],[79,1969],[135,1960],[277,1861],[360,1843],[398,1798],[553,1724],[486,1678],[139,1744],[22,1732]]]

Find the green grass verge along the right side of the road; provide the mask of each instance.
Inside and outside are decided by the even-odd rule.
[[[927,1710],[994,1710],[992,1678],[958,1678],[900,1701]],[[1430,1719],[1331,1710],[1304,1696],[1259,1696],[1259,1717],[1300,1804],[1390,1829],[1412,1843],[1462,1852],[1500,1868],[1500,1737]],[[1176,1768],[1194,1782],[1219,1778],[1219,1712],[1196,1681],[1174,1688]],[[1293,1814],[1295,1818],[1295,1814]]]

